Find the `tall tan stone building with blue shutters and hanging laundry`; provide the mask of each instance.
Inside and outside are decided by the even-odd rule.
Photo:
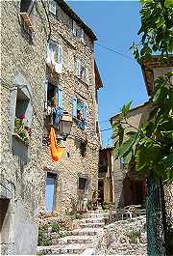
[[[40,209],[49,213],[82,210],[97,190],[100,135],[97,91],[102,81],[94,58],[96,37],[63,1],[47,5],[51,25],[47,45],[44,138],[40,157]],[[60,122],[72,118],[70,134],[61,137]],[[55,128],[62,158],[53,161],[50,128]]]

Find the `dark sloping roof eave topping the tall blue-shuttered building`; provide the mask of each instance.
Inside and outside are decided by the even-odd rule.
[[[85,24],[85,22],[63,1],[63,0],[56,0],[59,6],[62,8],[63,12],[68,14],[73,20],[76,21],[78,25],[80,25],[89,38],[92,41],[96,41],[97,38],[93,31]]]

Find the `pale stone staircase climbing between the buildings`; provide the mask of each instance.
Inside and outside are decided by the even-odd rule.
[[[57,245],[38,246],[37,254],[56,255],[94,255],[103,237],[104,213],[102,210],[83,214],[80,228],[70,232],[69,236],[59,239]]]

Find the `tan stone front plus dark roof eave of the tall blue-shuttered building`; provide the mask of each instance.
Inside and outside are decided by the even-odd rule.
[[[50,43],[53,43],[55,48],[62,46],[62,71],[56,72],[54,65],[47,64],[47,80],[48,84],[51,83],[55,88],[62,90],[62,109],[73,117],[73,124],[66,141],[59,141],[65,146],[65,152],[61,160],[56,162],[52,160],[49,152],[50,123],[45,122],[47,124],[44,127],[45,143],[40,158],[39,204],[42,211],[65,213],[70,212],[72,205],[79,203],[85,197],[90,200],[94,189],[97,190],[100,140],[97,132],[97,88],[93,51],[95,36],[64,2],[54,3],[56,4],[55,14],[48,11],[51,24]],[[47,8],[49,9],[49,6]],[[84,31],[83,40],[74,35],[74,21],[78,29]],[[87,68],[87,81],[77,76],[78,59],[81,60],[81,66]],[[79,119],[73,116],[74,97],[85,102],[87,106],[86,128],[84,129],[79,128]],[[55,130],[59,136],[56,127]],[[51,174],[54,175],[55,186],[52,194],[53,205],[49,208],[46,206],[47,196],[49,196],[46,179],[47,175]],[[85,179],[86,183],[82,189],[79,189],[80,179]]]

